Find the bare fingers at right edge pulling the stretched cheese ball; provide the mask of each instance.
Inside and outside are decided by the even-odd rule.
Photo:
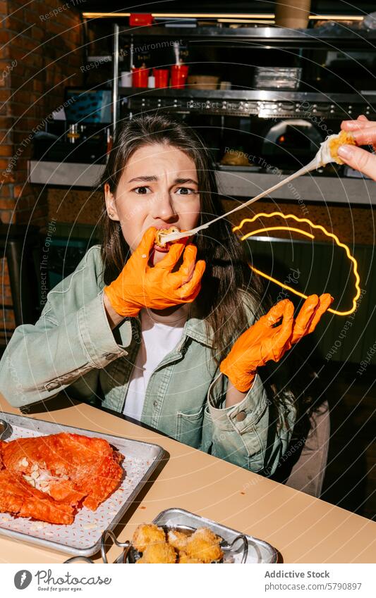
[[[353,133],[357,145],[376,145],[376,123],[365,116],[357,120],[344,120],[341,129]],[[355,145],[343,145],[338,149],[341,160],[360,173],[376,180],[376,156]]]

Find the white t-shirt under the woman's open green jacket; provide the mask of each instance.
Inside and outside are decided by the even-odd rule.
[[[140,311],[142,341],[126,394],[124,415],[140,421],[150,376],[181,340],[189,310],[190,304],[183,304],[170,316],[150,309]]]

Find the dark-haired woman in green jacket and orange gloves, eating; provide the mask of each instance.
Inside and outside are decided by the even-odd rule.
[[[296,320],[289,300],[262,316],[260,282],[225,219],[188,243],[157,247],[157,230],[221,213],[209,155],[185,125],[131,120],[101,186],[102,246],[51,290],[35,325],[16,329],[1,392],[15,406],[65,389],[96,395],[105,408],[271,475],[297,406],[284,387],[268,396],[259,370],[314,330],[332,298],[309,297]]]

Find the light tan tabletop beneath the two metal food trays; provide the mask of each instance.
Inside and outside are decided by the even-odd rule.
[[[136,525],[152,521],[164,509],[180,507],[269,542],[285,563],[375,562],[376,523],[90,405],[66,401],[65,397],[51,399],[46,404],[50,411],[38,406],[23,414],[154,442],[169,454],[162,471],[147,483],[140,503],[116,528],[119,540],[131,537]],[[56,409],[56,403],[61,409]],[[0,408],[20,413],[1,395]],[[109,562],[118,554],[119,549],[111,548]],[[62,563],[67,558],[0,536],[1,563]],[[101,562],[99,555],[96,560]]]

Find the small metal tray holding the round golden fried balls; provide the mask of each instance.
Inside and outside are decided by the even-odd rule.
[[[153,523],[156,525],[167,525],[169,527],[174,527],[174,525],[180,524],[190,525],[192,528],[210,528],[214,533],[222,536],[229,544],[231,544],[236,536],[241,533],[232,530],[231,528],[227,528],[226,525],[221,525],[221,523],[216,523],[210,519],[205,519],[205,517],[200,517],[199,515],[195,515],[184,509],[166,509],[166,511],[159,513]],[[248,556],[245,563],[277,563],[278,553],[271,544],[246,534],[245,537],[248,539]],[[234,557],[234,563],[240,563],[241,553],[238,554],[238,557],[239,560],[236,559],[236,556]]]

